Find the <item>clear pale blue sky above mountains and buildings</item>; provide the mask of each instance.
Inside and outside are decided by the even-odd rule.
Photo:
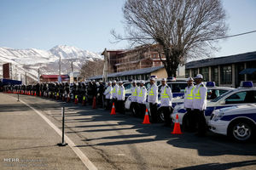
[[[53,48],[70,45],[94,52],[127,47],[113,44],[110,30],[124,32],[125,0],[1,0],[0,47]],[[256,30],[255,0],[223,0],[229,34]],[[256,32],[219,42],[215,56],[256,51]]]

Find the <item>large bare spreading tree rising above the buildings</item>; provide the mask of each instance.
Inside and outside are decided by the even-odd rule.
[[[187,59],[216,50],[216,38],[228,30],[220,0],[126,0],[123,13],[125,36],[112,31],[113,37],[132,45],[158,43],[168,77],[176,77]]]

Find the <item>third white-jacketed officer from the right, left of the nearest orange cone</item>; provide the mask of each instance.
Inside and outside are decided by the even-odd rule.
[[[165,126],[169,127],[172,125],[171,113],[172,113],[172,89],[167,85],[166,78],[163,78],[162,87],[160,89],[160,102],[161,109],[165,116]]]

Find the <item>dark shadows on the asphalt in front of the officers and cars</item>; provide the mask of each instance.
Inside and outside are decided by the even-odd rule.
[[[93,140],[101,139],[112,139],[112,141],[101,142],[95,145],[108,146],[108,145],[120,145],[120,144],[142,144],[149,143],[154,141],[166,141],[166,144],[178,148],[193,149],[198,151],[199,156],[223,156],[223,155],[238,155],[238,156],[256,156],[256,144],[255,141],[247,144],[236,143],[225,136],[217,135],[213,133],[207,133],[206,137],[196,137],[194,133],[183,133],[181,135],[172,134],[172,127],[163,127],[162,124],[142,124],[143,120],[140,118],[132,117],[131,115],[120,115],[110,116],[110,111],[104,110],[92,110],[91,106],[81,106],[73,104],[65,104],[61,102],[51,102],[51,103],[37,103],[31,104],[36,108],[40,108],[44,111],[50,111],[56,108],[61,108],[61,106],[67,107],[67,127],[70,123],[72,131],[67,133],[97,133],[104,132],[106,135],[102,138],[94,139],[84,139],[84,142],[87,144],[78,145],[77,147],[86,147]],[[17,103],[15,105],[0,105],[1,111],[27,111],[28,107],[26,105],[21,105]],[[72,111],[73,113],[69,112]],[[61,116],[60,114],[53,114],[53,116]],[[89,116],[80,118],[79,116]],[[78,118],[76,118],[78,117]],[[113,124],[111,121],[117,122]],[[79,126],[74,126],[75,123],[79,123]],[[84,125],[80,123],[84,122]],[[102,124],[86,124],[89,122],[102,122]],[[92,129],[92,127],[95,127]],[[98,128],[97,128],[98,127]],[[107,128],[101,128],[107,127]],[[79,128],[79,129],[78,129]],[[90,129],[89,129],[90,128]],[[125,130],[133,129],[135,134],[127,134]],[[108,132],[116,131],[117,135],[108,136]],[[115,140],[116,139],[116,140]],[[93,144],[92,144],[93,145]],[[239,162],[237,162],[239,163]],[[241,163],[246,164],[247,161]],[[251,163],[255,163],[252,161]],[[236,163],[235,163],[236,164]],[[222,164],[221,164],[222,165]],[[216,166],[215,169],[221,169],[221,165],[216,164],[207,164],[208,169],[211,169],[211,166]],[[227,165],[229,166],[229,165]],[[232,166],[232,165],[230,165]],[[189,169],[189,167],[186,167]],[[201,167],[194,167],[194,169],[200,169]],[[193,169],[191,167],[191,169]]]

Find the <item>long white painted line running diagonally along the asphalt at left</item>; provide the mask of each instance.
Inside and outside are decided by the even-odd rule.
[[[56,131],[56,133],[62,136],[61,130],[58,127],[56,127],[55,124],[50,122],[49,119],[46,116],[44,116],[40,111],[36,110],[31,105],[26,104],[26,102],[24,102],[23,100],[20,100],[20,102],[31,108],[36,113],[38,113],[38,115],[41,116],[44,119],[44,121],[47,122],[49,126]],[[76,144],[74,144],[73,141],[69,139],[66,134],[65,139],[67,144],[71,147],[71,149],[77,154],[77,156],[79,156],[80,160],[83,161],[85,167],[87,167],[89,170],[97,170],[97,167],[88,159],[87,156],[84,155],[84,153],[78,147],[76,147]]]

